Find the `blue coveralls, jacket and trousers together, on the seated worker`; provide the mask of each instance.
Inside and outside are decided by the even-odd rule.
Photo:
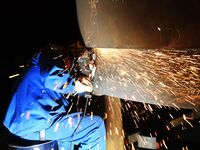
[[[71,143],[72,149],[81,144],[82,149],[105,150],[105,125],[99,116],[85,116],[73,136],[82,116],[78,112],[66,115],[69,101],[63,97],[73,90],[74,79],[61,56],[54,51],[38,52],[19,78],[3,123],[24,139],[39,140],[40,131],[45,131],[45,140],[58,140],[60,150],[68,150]]]

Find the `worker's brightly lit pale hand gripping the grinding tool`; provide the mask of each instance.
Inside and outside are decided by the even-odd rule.
[[[84,92],[92,92],[93,90],[93,86],[91,81],[86,78],[86,77],[82,77],[81,80],[76,80],[75,81],[75,94],[77,93],[84,93]]]

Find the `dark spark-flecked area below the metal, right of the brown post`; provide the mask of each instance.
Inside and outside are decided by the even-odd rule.
[[[127,104],[129,111],[127,111]],[[172,107],[159,108],[151,105],[152,110],[145,109],[144,104],[122,100],[123,127],[128,136],[139,133],[146,137],[156,137],[158,149],[196,149],[200,142],[200,117],[187,117],[184,121],[183,115],[193,113],[190,109],[177,110]],[[179,123],[178,120],[182,119]],[[142,149],[137,147],[136,149]],[[127,150],[129,148],[127,147]]]

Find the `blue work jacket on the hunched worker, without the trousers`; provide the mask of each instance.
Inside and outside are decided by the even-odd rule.
[[[46,129],[66,113],[69,101],[63,95],[73,90],[74,78],[62,55],[40,51],[18,78],[3,123],[22,137]]]

